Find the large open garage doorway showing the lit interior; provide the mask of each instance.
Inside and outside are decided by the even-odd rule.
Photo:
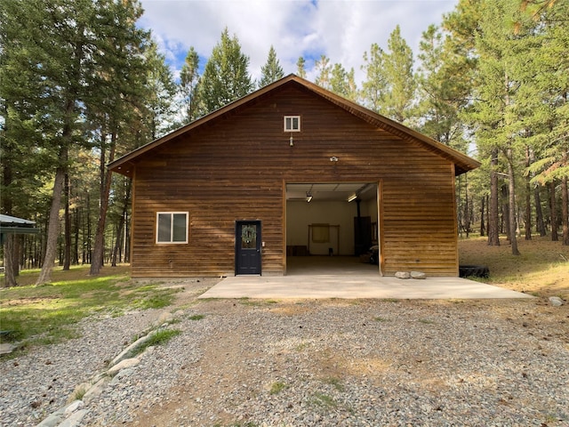
[[[380,272],[377,182],[286,184],[286,274]]]

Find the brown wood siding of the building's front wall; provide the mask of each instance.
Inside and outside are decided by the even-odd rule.
[[[293,147],[285,115],[301,116]],[[233,274],[236,220],[262,222],[263,274],[282,273],[284,183],[341,181],[381,181],[384,273],[458,274],[453,164],[300,87],[260,96],[138,160],[135,277]],[[187,245],[156,245],[158,211],[189,213]]]

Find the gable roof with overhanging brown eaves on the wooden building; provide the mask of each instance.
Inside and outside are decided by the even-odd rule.
[[[373,112],[371,109],[365,109],[365,107],[362,107],[355,102],[346,100],[345,98],[342,98],[335,93],[327,91],[318,85],[310,83],[308,80],[291,74],[287,77],[283,77],[280,80],[277,80],[271,85],[260,88],[258,91],[245,95],[243,98],[233,101],[228,105],[221,107],[220,109],[216,109],[212,113],[204,117],[200,117],[188,125],[180,127],[172,133],[164,135],[162,138],[158,138],[157,140],[149,142],[148,144],[143,145],[138,149],[132,150],[130,153],[124,155],[123,157],[119,157],[115,161],[109,163],[108,168],[113,172],[121,173],[126,176],[132,176],[132,169],[137,157],[148,153],[148,151],[152,149],[156,149],[156,147],[161,146],[167,141],[171,141],[172,139],[180,136],[182,133],[187,133],[192,129],[196,129],[199,126],[210,123],[218,117],[223,117],[234,113],[237,109],[244,107],[245,105],[259,99],[263,95],[275,91],[284,85],[300,85],[301,87],[309,90],[309,92],[317,94],[318,96],[324,98],[329,102],[332,102],[341,109],[348,111],[350,114],[364,120],[373,126],[381,128],[389,133],[393,133],[403,140],[421,142],[429,151],[437,153],[437,155],[451,161],[455,165],[456,175],[469,172],[480,166],[480,163],[477,160],[465,154],[462,154],[456,149],[452,149],[441,142],[435,141],[428,136],[423,135],[422,133],[413,131],[413,129],[410,129],[405,125],[401,125],[388,117],[381,116],[380,114]]]

